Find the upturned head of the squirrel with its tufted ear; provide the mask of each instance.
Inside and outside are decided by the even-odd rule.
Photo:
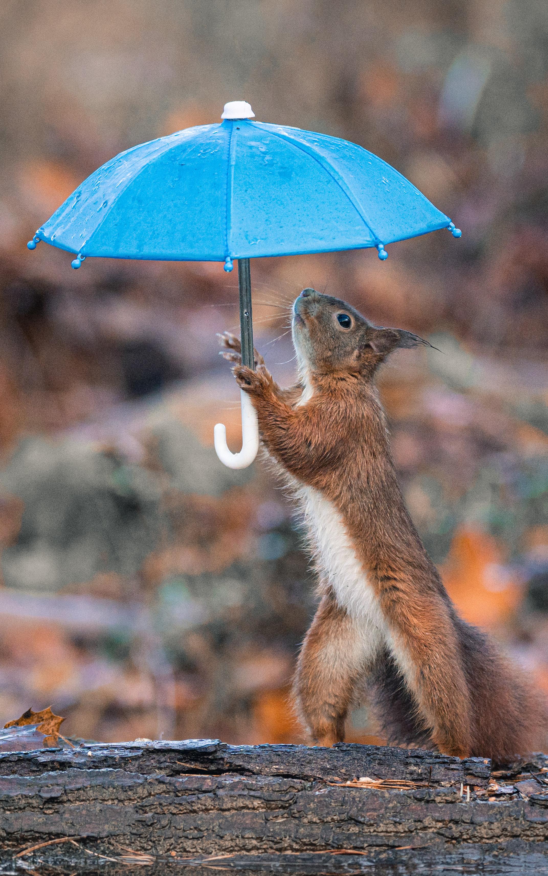
[[[293,305],[293,343],[303,371],[359,373],[372,378],[381,362],[398,348],[429,346],[405,329],[385,329],[355,307],[315,289],[303,289]]]

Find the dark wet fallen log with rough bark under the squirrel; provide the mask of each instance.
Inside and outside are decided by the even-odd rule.
[[[545,774],[544,755],[494,774],[488,759],[375,745],[2,752],[0,873],[544,872]]]

